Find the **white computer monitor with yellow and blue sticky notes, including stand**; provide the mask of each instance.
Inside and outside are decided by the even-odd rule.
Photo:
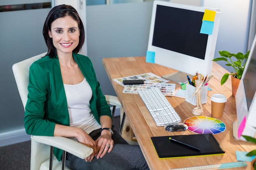
[[[218,9],[155,0],[147,54],[154,53],[154,63],[179,71],[163,76],[174,82],[187,82],[186,73],[210,75],[219,23]]]

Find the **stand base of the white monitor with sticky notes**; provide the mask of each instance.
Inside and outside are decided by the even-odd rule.
[[[191,81],[194,75],[188,74]],[[188,78],[186,77],[186,73],[178,71],[176,73],[166,74],[162,76],[164,79],[168,79],[170,81],[180,83],[180,84],[186,84],[188,82]]]

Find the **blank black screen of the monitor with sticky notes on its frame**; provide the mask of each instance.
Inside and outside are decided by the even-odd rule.
[[[157,5],[152,45],[204,60],[208,35],[200,33],[203,15]]]

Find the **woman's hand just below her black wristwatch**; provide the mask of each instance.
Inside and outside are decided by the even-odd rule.
[[[112,140],[111,133],[108,130],[103,130],[101,136],[95,141],[97,144],[98,153],[97,159],[104,157],[108,152],[110,153],[114,147],[114,141]]]

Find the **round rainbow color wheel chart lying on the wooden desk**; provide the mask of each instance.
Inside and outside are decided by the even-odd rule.
[[[184,120],[184,124],[188,126],[191,132],[198,134],[211,133],[215,135],[226,130],[226,125],[222,121],[207,116],[189,117]]]

